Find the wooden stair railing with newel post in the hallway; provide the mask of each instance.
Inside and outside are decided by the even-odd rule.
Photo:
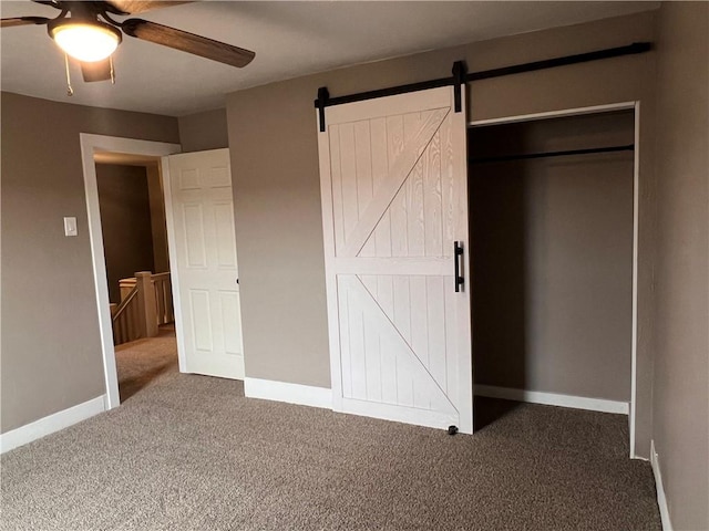
[[[115,345],[153,337],[161,324],[175,320],[169,272],[138,271],[135,278],[122,279],[120,287],[121,303],[111,308]]]

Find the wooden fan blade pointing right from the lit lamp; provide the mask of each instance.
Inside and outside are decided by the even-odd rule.
[[[174,48],[183,52],[193,53],[202,58],[212,59],[232,66],[246,66],[256,55],[250,50],[233,46],[224,42],[214,41],[206,37],[195,35],[186,31],[168,28],[143,19],[125,20],[121,28],[131,37],[144,41]]]

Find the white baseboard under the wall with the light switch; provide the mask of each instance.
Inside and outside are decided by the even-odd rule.
[[[27,445],[40,439],[45,435],[53,434],[60,429],[68,428],[76,423],[81,423],[89,417],[93,417],[106,410],[105,395],[92,398],[83,404],[63,409],[47,417],[25,424],[17,429],[12,429],[0,435],[0,454],[4,454],[18,446]]]

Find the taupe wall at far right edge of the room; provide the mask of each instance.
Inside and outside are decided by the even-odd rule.
[[[664,2],[658,35],[653,438],[676,530],[709,529],[709,3]]]

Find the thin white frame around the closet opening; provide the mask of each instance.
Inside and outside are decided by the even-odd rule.
[[[584,114],[602,114],[613,111],[634,111],[635,118],[635,149],[633,153],[633,310],[630,325],[630,403],[628,423],[630,431],[630,458],[636,457],[636,415],[637,415],[637,354],[638,354],[638,236],[639,236],[639,184],[640,184],[640,102],[620,102],[588,107],[565,108],[544,113],[521,114],[500,118],[476,119],[467,123],[467,127],[485,125],[514,124],[565,116],[580,116]]]

